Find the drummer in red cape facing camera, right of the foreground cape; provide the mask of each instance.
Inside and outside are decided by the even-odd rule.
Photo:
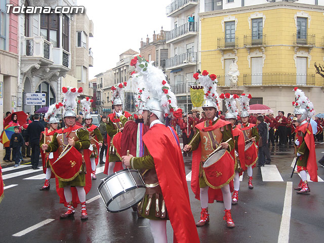
[[[200,86],[204,87],[203,109],[207,120],[196,125],[198,130],[190,143],[184,147],[185,152],[193,151],[191,188],[195,198],[200,199],[200,220],[196,226],[209,223],[208,203],[223,200],[225,207],[224,220],[229,228],[235,227],[231,217],[230,182],[234,178],[234,160],[229,152],[234,148],[232,126],[229,121],[216,117],[218,112],[217,79],[215,74],[208,75],[206,70],[202,75],[193,74]],[[221,148],[220,159],[209,155]],[[217,160],[217,158],[216,158]],[[208,166],[207,166],[208,165]],[[206,166],[206,167],[205,167]]]

